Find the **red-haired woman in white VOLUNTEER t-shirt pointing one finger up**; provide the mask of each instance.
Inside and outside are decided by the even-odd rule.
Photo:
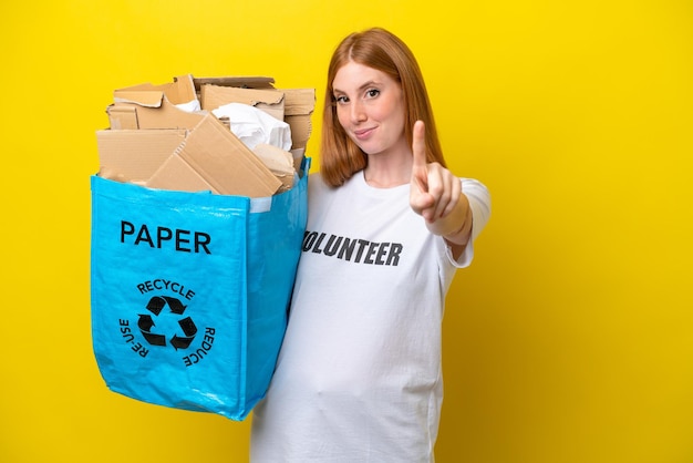
[[[432,462],[445,294],[490,200],[445,167],[421,71],[392,33],[335,50],[321,165],[251,461]]]

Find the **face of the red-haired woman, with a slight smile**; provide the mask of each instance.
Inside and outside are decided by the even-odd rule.
[[[402,86],[382,71],[350,61],[337,71],[337,116],[368,155],[408,153]]]

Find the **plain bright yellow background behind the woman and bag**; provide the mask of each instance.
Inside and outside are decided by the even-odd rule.
[[[99,374],[94,132],[113,89],[188,72],[320,106],[337,42],[382,25],[494,197],[448,298],[437,460],[693,462],[692,20],[686,0],[2,1],[0,461],[247,460],[248,422]]]

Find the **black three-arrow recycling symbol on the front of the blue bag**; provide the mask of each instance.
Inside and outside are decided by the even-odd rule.
[[[166,306],[168,306],[168,311],[164,311]],[[149,299],[149,302],[147,302],[147,310],[152,312],[152,315],[141,313],[139,320],[137,321],[137,327],[144,336],[144,339],[146,339],[152,346],[165,347],[167,335],[158,332],[153,316],[157,321],[162,321],[164,318],[170,318],[170,316],[173,316],[177,320],[177,326],[173,325],[172,330],[175,332],[170,337],[169,342],[176,350],[187,349],[190,346],[190,342],[193,342],[193,339],[195,339],[197,327],[190,317],[183,318],[183,312],[185,312],[186,308],[187,306],[180,303],[180,301],[176,298],[168,296],[154,296]],[[167,323],[162,322],[159,325],[166,326]],[[178,330],[178,328],[180,330]],[[184,336],[179,336],[180,331]]]

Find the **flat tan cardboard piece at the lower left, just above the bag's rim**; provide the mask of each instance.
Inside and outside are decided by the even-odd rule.
[[[125,182],[147,181],[183,143],[185,130],[102,130],[96,131],[102,168],[118,174]]]

